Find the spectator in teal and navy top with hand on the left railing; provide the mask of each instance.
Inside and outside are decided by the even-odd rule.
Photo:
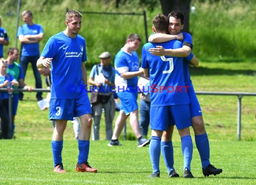
[[[8,57],[6,61],[8,62],[7,65],[7,73],[11,74],[14,79],[19,82],[19,87],[27,89],[28,91],[32,91],[34,88],[31,86],[27,86],[24,83],[24,75],[22,73],[21,66],[16,62],[19,58],[19,51],[17,48],[9,48],[8,50]],[[17,86],[13,86],[13,88],[18,88]],[[18,109],[18,101],[19,101],[19,94],[18,92],[13,92],[13,109],[12,109],[12,132],[11,138],[13,138],[14,129],[15,129],[15,115],[17,114]]]

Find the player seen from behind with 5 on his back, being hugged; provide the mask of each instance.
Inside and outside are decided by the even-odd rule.
[[[163,14],[158,14],[153,19],[153,31],[166,33],[168,24],[168,18]],[[190,172],[193,154],[193,143],[189,129],[191,126],[190,101],[183,75],[183,57],[154,56],[150,54],[149,49],[155,48],[156,45],[172,49],[182,48],[182,43],[179,40],[171,40],[161,44],[146,43],[142,48],[141,67],[144,68],[145,76],[150,77],[151,87],[150,160],[153,174],[150,177],[160,176],[161,137],[163,132],[172,131],[175,124],[181,137],[184,177],[193,178]],[[165,157],[163,154],[163,158]],[[173,167],[170,175],[178,176]]]

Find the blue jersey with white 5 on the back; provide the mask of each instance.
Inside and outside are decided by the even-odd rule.
[[[179,40],[164,43],[146,43],[142,48],[141,67],[149,68],[151,107],[190,103],[183,75],[183,57],[154,56],[150,48],[181,48]]]

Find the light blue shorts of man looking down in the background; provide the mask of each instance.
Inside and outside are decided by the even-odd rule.
[[[128,115],[130,112],[138,109],[138,92],[122,91],[117,93],[117,96],[120,98],[121,102],[120,110],[124,110],[125,115]]]

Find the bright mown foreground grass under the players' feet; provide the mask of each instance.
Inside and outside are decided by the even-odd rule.
[[[255,142],[211,141],[211,161],[223,172],[204,177],[199,154],[194,148],[191,172],[194,179],[168,178],[160,158],[161,176],[151,179],[148,146],[137,148],[136,141],[122,141],[123,146],[108,147],[107,141],[91,141],[89,163],[98,173],[75,171],[78,146],[76,141],[64,141],[62,159],[65,174],[53,172],[50,140],[0,141],[0,184],[132,184],[132,185],[253,185],[255,176]],[[194,144],[195,145],[195,144]],[[176,171],[182,175],[181,143],[173,143]],[[3,157],[4,156],[4,157]]]

